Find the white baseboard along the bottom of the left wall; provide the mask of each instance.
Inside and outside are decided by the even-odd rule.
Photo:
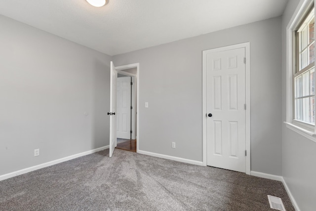
[[[40,165],[37,165],[37,166],[34,166],[34,167],[29,167],[29,168],[26,168],[26,169],[21,169],[21,170],[13,171],[11,173],[3,174],[3,175],[0,175],[0,181],[4,180],[4,179],[11,178],[11,177],[14,177],[14,176],[18,176],[18,175],[21,175],[21,174],[24,174],[24,173],[28,173],[28,172],[31,172],[31,171],[34,171],[34,170],[38,170],[38,169],[42,169],[42,168],[45,168],[45,167],[53,166],[55,164],[59,164],[59,163],[65,162],[65,161],[73,160],[75,158],[79,158],[81,156],[85,156],[85,155],[89,155],[89,154],[92,154],[92,153],[95,153],[95,152],[99,152],[101,150],[109,149],[109,147],[110,147],[110,145],[104,146],[104,147],[100,147],[100,148],[97,148],[97,149],[93,149],[93,150],[89,150],[89,151],[86,151],[86,152],[81,152],[81,153],[78,153],[76,155],[71,155],[71,156],[68,156],[68,157],[65,157],[65,158],[60,158],[60,159],[57,159],[57,160],[54,160],[54,161],[50,161],[50,162],[47,162],[47,163],[44,163],[44,164],[40,164]]]

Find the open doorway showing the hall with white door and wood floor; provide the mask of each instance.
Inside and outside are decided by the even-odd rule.
[[[138,66],[116,67],[117,149],[137,152],[137,72]]]

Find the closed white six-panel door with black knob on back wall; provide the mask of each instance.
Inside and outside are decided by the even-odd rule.
[[[245,48],[205,51],[207,166],[245,172]]]

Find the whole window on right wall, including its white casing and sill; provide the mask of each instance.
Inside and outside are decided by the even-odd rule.
[[[316,0],[300,0],[286,28],[286,127],[316,142]]]

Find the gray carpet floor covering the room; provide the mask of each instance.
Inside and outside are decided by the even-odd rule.
[[[116,149],[0,181],[0,211],[294,211],[281,182]]]

